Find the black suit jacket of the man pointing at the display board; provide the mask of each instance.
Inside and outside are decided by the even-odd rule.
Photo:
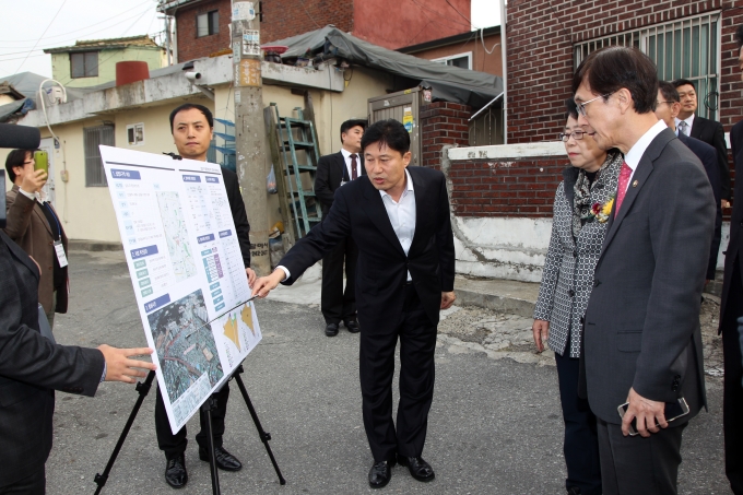
[[[352,236],[358,246],[356,309],[362,328],[374,331],[402,313],[408,271],[426,315],[438,323],[441,292],[453,291],[455,246],[449,197],[444,174],[433,168],[408,167],[415,191],[415,234],[408,256],[392,229],[381,196],[368,177],[353,180],[335,193],[321,224],[284,256],[293,284],[304,271]]]

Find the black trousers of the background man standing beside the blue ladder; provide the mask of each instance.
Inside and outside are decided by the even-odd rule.
[[[345,258],[345,291],[343,259]],[[322,258],[322,296],[320,309],[326,323],[356,319],[356,260],[358,247],[346,237]]]

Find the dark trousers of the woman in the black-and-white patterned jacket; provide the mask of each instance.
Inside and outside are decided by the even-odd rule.
[[[565,439],[563,452],[567,467],[565,487],[580,488],[582,495],[601,495],[601,465],[595,416],[587,399],[578,397],[580,360],[570,357],[570,338],[564,355],[555,353],[559,402],[563,406]]]

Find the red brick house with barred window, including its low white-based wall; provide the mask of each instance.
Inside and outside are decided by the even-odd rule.
[[[642,50],[661,79],[694,81],[699,114],[729,132],[743,118],[733,37],[741,24],[743,9],[731,0],[509,1],[508,145],[458,148],[441,157],[451,184],[458,271],[541,280],[555,190],[569,165],[557,141],[565,99],[575,69],[591,51],[610,45]],[[729,235],[730,210],[723,213],[718,269]]]

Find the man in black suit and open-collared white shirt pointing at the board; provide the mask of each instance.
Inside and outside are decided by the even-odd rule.
[[[410,134],[397,120],[370,126],[362,139],[367,176],[343,186],[325,221],[256,281],[266,297],[292,285],[338,243],[358,246],[359,372],[366,437],[374,455],[369,486],[381,488],[400,462],[423,482],[434,470],[423,460],[434,398],[434,350],[439,309],[455,302],[455,247],[444,174],[409,167]],[[400,339],[400,403],[392,422],[394,349]]]

